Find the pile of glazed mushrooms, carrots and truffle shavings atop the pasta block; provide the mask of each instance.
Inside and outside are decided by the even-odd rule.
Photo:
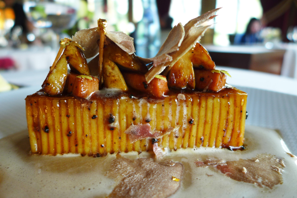
[[[62,40],[64,52],[60,49],[42,88],[52,96],[67,92],[84,98],[101,88],[134,90],[157,98],[165,97],[169,88],[219,91],[224,88],[226,74],[215,70],[208,52],[197,43],[208,28],[200,25],[214,18],[217,10],[185,26],[175,26],[156,57],[150,59],[137,57],[133,39],[107,31],[106,21],[99,19],[98,28]],[[87,63],[86,57],[94,58]]]

